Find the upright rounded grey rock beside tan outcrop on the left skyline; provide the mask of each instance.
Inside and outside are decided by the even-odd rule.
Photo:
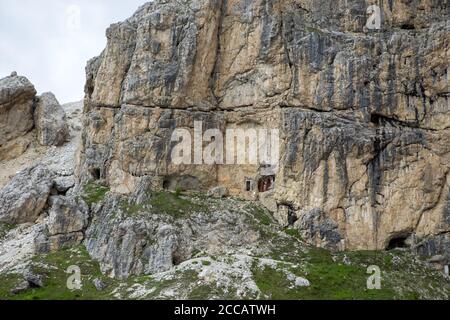
[[[66,113],[51,92],[37,98],[34,110],[37,139],[43,146],[60,146],[67,141],[69,127]]]

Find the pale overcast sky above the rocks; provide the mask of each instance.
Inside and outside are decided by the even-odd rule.
[[[26,76],[61,103],[83,98],[87,60],[106,45],[106,28],[146,0],[0,0],[0,78]]]

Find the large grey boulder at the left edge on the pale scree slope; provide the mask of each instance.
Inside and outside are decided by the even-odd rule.
[[[53,174],[35,166],[17,174],[0,191],[0,221],[20,224],[35,222],[44,209],[53,186]]]

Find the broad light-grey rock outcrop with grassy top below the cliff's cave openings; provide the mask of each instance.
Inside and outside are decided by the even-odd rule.
[[[260,233],[249,227],[245,208],[232,201],[201,207],[187,202],[192,200],[164,200],[167,206],[179,201],[184,212],[164,211],[165,205],[152,204],[151,196],[140,201],[111,195],[93,208],[85,245],[105,274],[121,279],[154,274],[198,252],[220,254],[260,240]]]

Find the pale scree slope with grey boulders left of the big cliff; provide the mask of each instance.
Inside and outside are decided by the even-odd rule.
[[[36,141],[24,154],[0,163],[0,230],[5,230],[0,235],[0,272],[24,270],[37,253],[79,244],[84,238],[89,208],[71,193],[82,103],[63,107],[68,114],[66,143],[49,147]]]

